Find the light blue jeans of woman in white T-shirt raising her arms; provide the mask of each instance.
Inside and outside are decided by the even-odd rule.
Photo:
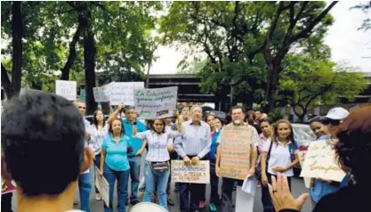
[[[146,161],[146,163],[148,162]],[[155,192],[155,184],[157,182],[157,196],[160,202],[160,206],[167,210],[166,187],[169,175],[169,171],[165,171],[162,174],[157,174],[151,168],[149,168],[146,175],[146,192],[144,192],[143,201],[150,202],[152,193]]]

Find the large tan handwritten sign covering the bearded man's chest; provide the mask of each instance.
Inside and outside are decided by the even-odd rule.
[[[220,139],[220,175],[245,180],[250,168],[251,130],[247,126],[224,126]]]

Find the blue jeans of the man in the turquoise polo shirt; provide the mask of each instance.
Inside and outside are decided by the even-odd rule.
[[[132,179],[132,193],[130,202],[138,201],[139,175],[141,174],[141,156],[128,158],[130,165],[130,179]]]

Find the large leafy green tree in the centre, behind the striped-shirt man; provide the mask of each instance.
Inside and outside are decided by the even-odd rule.
[[[255,55],[260,52],[262,29],[273,14],[270,2],[174,2],[161,21],[165,44],[189,45],[189,55],[206,53],[200,71],[201,88],[214,93],[219,110],[228,110],[227,95],[234,102],[236,87],[242,82],[256,90],[265,87],[262,67]],[[195,57],[195,61],[204,60]],[[258,64],[258,65],[257,65]],[[183,64],[181,64],[182,66]],[[187,67],[187,66],[185,66]],[[234,69],[239,67],[238,69]],[[246,96],[252,99],[253,96]]]

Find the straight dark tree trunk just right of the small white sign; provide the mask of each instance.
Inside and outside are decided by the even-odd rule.
[[[89,6],[86,6],[86,30],[84,37],[84,63],[85,63],[85,94],[86,94],[86,114],[93,114],[97,109],[97,103],[94,100],[93,87],[95,86],[95,41],[92,29],[92,12]]]

